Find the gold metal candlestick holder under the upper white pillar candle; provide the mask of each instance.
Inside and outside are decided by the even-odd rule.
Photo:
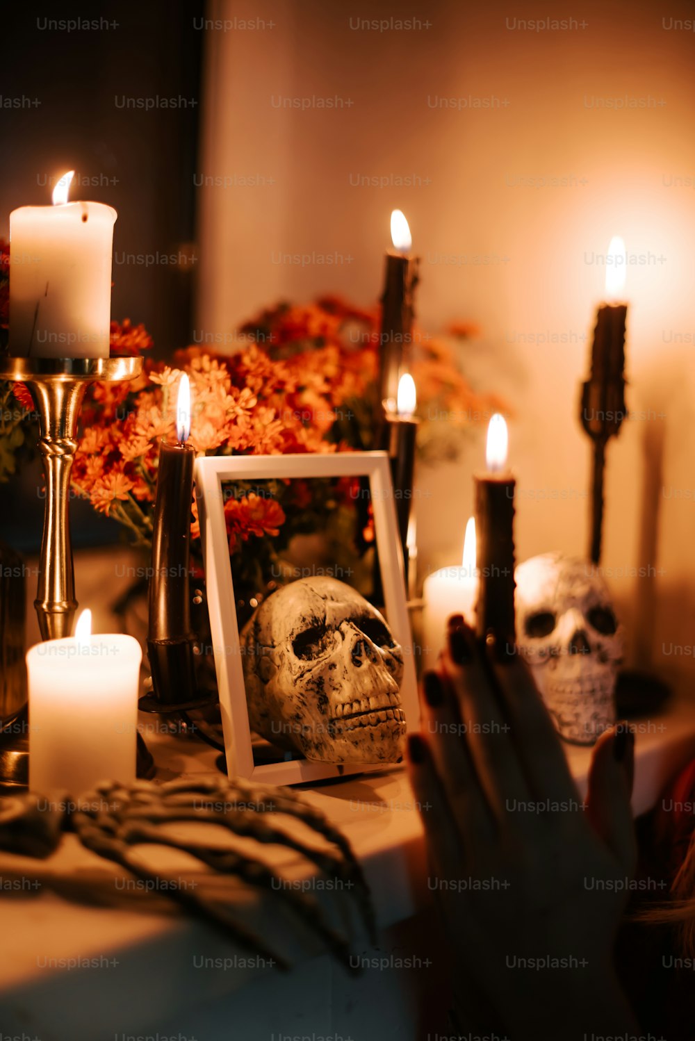
[[[0,379],[25,383],[38,414],[46,510],[34,607],[42,639],[70,636],[77,609],[70,538],[70,472],[89,383],[132,380],[141,358],[0,358]]]

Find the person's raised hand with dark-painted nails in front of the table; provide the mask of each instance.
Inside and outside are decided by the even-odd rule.
[[[452,621],[408,758],[460,1018],[472,982],[518,1037],[624,1031],[612,948],[636,862],[633,735],[601,736],[583,803],[520,657],[495,661]]]

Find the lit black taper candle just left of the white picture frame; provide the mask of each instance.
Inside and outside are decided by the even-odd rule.
[[[161,442],[152,533],[148,656],[152,692],[158,702],[184,704],[196,697],[190,631],[190,508],[196,451],[190,431],[188,377],[179,384],[178,443]]]

